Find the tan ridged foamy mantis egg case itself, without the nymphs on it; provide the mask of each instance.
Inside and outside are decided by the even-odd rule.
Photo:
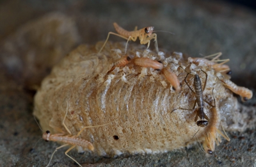
[[[216,102],[225,104],[224,100],[232,98],[231,91],[223,86],[212,68],[207,65],[199,68],[178,54],[163,57],[131,45],[131,50],[127,51],[129,55],[160,60],[164,67],[169,67],[182,84],[178,92],[172,89],[161,71],[152,68],[128,64],[110,71],[121,56],[112,49],[124,47],[120,43],[108,43],[104,52],[97,54],[101,45],[102,42],[96,46],[77,47],[52,68],[51,74],[42,82],[35,96],[33,114],[40,120],[44,131],[56,132],[49,123],[65,131],[61,120],[68,103],[70,107],[65,124],[72,134],[77,134],[86,126],[112,122],[111,125],[81,133],[81,138],[90,141],[98,155],[166,152],[185,147],[197,139],[203,142],[207,139],[205,131],[210,127],[198,131],[195,112],[171,111],[178,107],[191,108],[195,101],[195,95],[184,83],[187,73],[179,67],[194,73],[200,68],[207,72],[205,99],[212,100],[213,87]],[[205,79],[201,73],[199,77]],[[187,80],[189,83],[193,78],[188,77]],[[216,112],[221,115],[219,108],[216,106]],[[211,124],[211,107],[205,106],[205,114]],[[220,117],[216,122],[220,124]],[[191,139],[195,133],[196,138]]]

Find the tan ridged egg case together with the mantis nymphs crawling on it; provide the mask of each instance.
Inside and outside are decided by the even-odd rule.
[[[139,32],[141,44],[156,40]],[[77,47],[42,82],[33,114],[45,140],[105,156],[166,152],[195,141],[212,154],[220,136],[230,140],[219,129],[220,108],[233,105],[232,92],[248,100],[252,91],[229,80],[229,67],[213,61],[217,54],[184,58],[159,52],[157,43],[157,52],[127,44],[122,51],[122,43],[107,40]]]

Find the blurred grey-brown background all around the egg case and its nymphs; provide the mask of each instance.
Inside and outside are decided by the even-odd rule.
[[[223,52],[239,86],[256,90],[256,12],[253,1],[0,1],[0,166],[46,166],[58,144],[45,143],[33,118],[33,95],[53,65],[80,44],[115,32],[154,26],[160,51],[192,57]],[[110,36],[109,40],[124,42]],[[137,42],[136,44],[140,44]],[[150,46],[154,49],[154,45]],[[253,99],[244,103],[255,109]],[[92,157],[70,152],[84,166],[253,166],[256,134],[230,132],[211,157],[198,147],[157,155]],[[38,141],[38,143],[36,143]],[[58,151],[54,166],[76,166]],[[93,163],[93,164],[88,164]]]

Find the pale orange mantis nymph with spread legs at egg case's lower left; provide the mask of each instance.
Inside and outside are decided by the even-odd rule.
[[[69,133],[68,135],[65,135],[65,132],[61,131],[60,128],[58,127],[54,127],[53,125],[51,125],[51,127],[54,127],[55,129],[57,129],[58,131],[60,131],[60,134],[51,134],[50,131],[46,131],[44,132],[42,138],[45,139],[45,141],[61,141],[63,143],[67,143],[65,145],[61,145],[60,147],[56,148],[54,150],[54,152],[51,155],[51,159],[49,161],[49,163],[47,164],[47,166],[49,166],[49,164],[51,163],[52,157],[54,155],[54,153],[63,147],[66,147],[68,145],[72,145],[72,147],[68,148],[68,150],[65,152],[65,155],[67,155],[70,159],[72,159],[73,161],[75,161],[79,166],[81,166],[81,164],[79,164],[74,158],[70,157],[70,155],[68,155],[68,152],[70,152],[70,150],[72,150],[73,148],[75,148],[76,146],[80,146],[83,148],[88,148],[89,150],[94,150],[94,147],[92,145],[92,143],[90,143],[90,141],[87,141],[85,139],[81,139],[78,136],[81,134],[81,132],[84,131],[84,129],[88,128],[88,127],[101,127],[104,125],[108,125],[109,123],[103,124],[103,125],[97,125],[97,126],[88,126],[88,127],[83,127],[83,129],[81,129],[81,131],[79,131],[77,133],[77,135],[72,136],[71,132],[69,131],[69,129],[67,128],[67,125],[65,125],[65,118],[67,117],[67,113],[68,113],[68,106],[67,106],[67,112],[63,118],[63,126],[65,127],[65,129],[67,130],[67,132]],[[46,167],[47,167],[46,166]],[[81,166],[82,167],[82,166]]]

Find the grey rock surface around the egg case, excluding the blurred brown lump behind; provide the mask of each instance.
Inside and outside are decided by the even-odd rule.
[[[15,36],[15,32],[22,29],[22,24],[31,19],[39,20],[42,15],[52,11],[65,13],[66,17],[68,15],[67,19],[70,17],[74,19],[81,39],[80,44],[95,44],[99,40],[105,40],[108,32],[114,31],[113,22],[118,22],[127,30],[134,29],[134,26],[138,28],[155,26],[156,30],[172,31],[175,35],[157,33],[159,47],[170,52],[180,51],[193,57],[198,57],[200,53],[209,55],[221,51],[223,59],[230,58],[228,65],[233,70],[234,83],[252,90],[256,88],[254,74],[256,14],[252,10],[211,1],[163,1],[162,3],[156,3],[156,1],[147,1],[147,3],[144,1],[140,3],[3,1],[0,10],[0,24],[4,25],[0,29],[1,59],[9,53],[3,54],[2,44]],[[18,41],[18,37],[15,36],[12,42]],[[110,40],[122,41],[117,37],[111,37]],[[26,43],[26,40],[22,38],[18,44],[24,44],[24,42]],[[22,52],[23,49],[17,47],[16,44],[12,43],[17,52],[15,58],[20,59],[19,51]],[[33,42],[26,46],[33,48],[31,44]],[[13,79],[17,76],[16,74],[11,76],[10,71],[3,65],[0,68],[0,164],[3,166],[46,166],[54,148],[59,145],[54,142],[38,141],[42,132],[32,116],[33,94],[23,89],[23,82],[18,83]],[[21,68],[21,70],[23,72],[24,69]],[[23,76],[20,77],[23,81],[25,80]],[[255,127],[255,106],[253,106],[255,96],[244,104],[247,107],[237,103],[240,114],[236,116],[247,122],[246,127],[253,128]],[[243,124],[239,124],[239,127],[243,127]],[[84,163],[83,166],[255,165],[256,134],[254,129],[245,132],[230,132],[228,135],[231,141],[221,143],[222,147],[217,147],[215,154],[207,158],[196,146],[164,154],[133,155],[116,159],[93,157],[89,153],[79,155],[76,152],[70,152],[70,155],[79,163]],[[59,150],[54,155],[52,164],[54,166],[75,166],[63,152],[64,150]]]

